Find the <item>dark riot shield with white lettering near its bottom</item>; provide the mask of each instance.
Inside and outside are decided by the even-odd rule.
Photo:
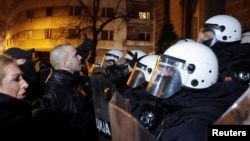
[[[93,74],[91,76],[91,88],[96,128],[100,132],[99,140],[111,140],[108,103],[117,89],[113,83],[103,77],[103,74]]]

